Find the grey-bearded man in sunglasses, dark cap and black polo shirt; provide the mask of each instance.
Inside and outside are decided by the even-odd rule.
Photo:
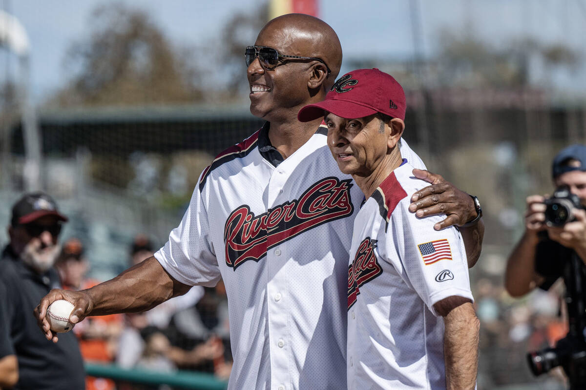
[[[25,194],[12,207],[10,241],[2,253],[0,285],[5,289],[0,315],[0,375],[11,372],[13,389],[83,389],[84,369],[73,333],[50,343],[39,333],[33,309],[50,289],[59,288],[53,264],[66,216],[43,192]],[[3,293],[4,294],[4,293]],[[15,358],[10,358],[10,357]],[[14,367],[18,362],[18,367]],[[12,365],[12,367],[2,367]],[[9,370],[12,368],[12,370]],[[14,373],[16,372],[16,375]]]

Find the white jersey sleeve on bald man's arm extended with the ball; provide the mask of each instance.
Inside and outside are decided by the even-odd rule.
[[[179,226],[171,231],[169,240],[155,253],[155,258],[183,284],[213,287],[220,280],[207,210],[199,186],[193,191]]]

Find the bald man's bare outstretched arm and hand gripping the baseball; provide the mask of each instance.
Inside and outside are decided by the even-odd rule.
[[[87,316],[148,310],[173,296],[185,294],[190,288],[169,275],[155,257],[149,257],[114,279],[92,288],[81,291],[51,290],[35,308],[35,316],[46,339],[57,342],[57,336],[51,332],[45,318],[47,308],[57,299],[73,303],[75,308],[69,320],[78,323]]]

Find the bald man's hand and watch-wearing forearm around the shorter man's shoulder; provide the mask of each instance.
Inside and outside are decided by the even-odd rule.
[[[445,181],[441,175],[418,169],[414,169],[413,174],[431,185],[411,196],[409,210],[419,218],[445,214],[446,218],[436,223],[434,229],[441,230],[452,225],[459,227],[466,248],[468,268],[472,268],[480,257],[484,237],[482,218],[465,226],[478,216],[472,197],[456,188],[451,182]]]

